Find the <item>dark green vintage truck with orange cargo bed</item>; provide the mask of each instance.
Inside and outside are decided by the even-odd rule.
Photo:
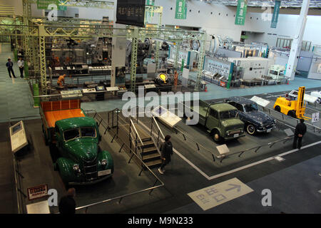
[[[93,184],[113,175],[113,157],[99,147],[98,125],[81,110],[80,100],[41,102],[40,114],[46,145],[65,185]]]

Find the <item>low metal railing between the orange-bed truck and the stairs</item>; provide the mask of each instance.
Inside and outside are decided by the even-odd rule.
[[[119,110],[118,110],[118,108],[116,108],[115,110],[112,110],[111,112],[115,112],[115,113],[117,113],[116,115],[118,115]],[[108,113],[111,113],[111,112],[108,112]],[[95,120],[98,120],[98,126],[101,126],[101,127],[105,128],[104,134],[106,134],[107,131],[109,133],[111,133],[111,135],[114,134],[113,139],[111,140],[111,142],[113,142],[113,140],[116,138],[116,135],[118,135],[119,130],[121,128],[119,123],[116,123],[116,125],[109,125],[108,123],[106,123],[106,120],[103,120],[101,115],[99,115],[96,112],[96,110],[85,110],[85,113],[93,113],[93,118]],[[111,115],[108,115],[108,116],[111,116]],[[117,122],[119,120],[123,120],[123,118],[118,116]],[[116,128],[116,130],[115,130],[115,128]],[[133,156],[135,156],[136,160],[138,160],[138,162],[140,162],[140,164],[142,165],[143,168],[139,172],[138,176],[141,176],[141,173],[143,172],[143,170],[148,170],[148,172],[151,173],[151,175],[153,177],[155,177],[155,182],[153,183],[153,186],[152,187],[148,187],[148,188],[143,189],[143,190],[136,191],[136,192],[131,192],[131,193],[128,193],[126,195],[121,195],[121,196],[118,196],[118,197],[112,197],[110,199],[105,199],[105,200],[102,200],[100,202],[95,202],[95,203],[92,203],[92,204],[87,204],[87,205],[84,205],[84,206],[81,206],[81,207],[77,207],[76,211],[79,211],[81,209],[85,209],[85,212],[87,213],[88,209],[91,208],[91,207],[94,207],[94,206],[96,206],[98,204],[104,204],[104,203],[107,203],[107,202],[112,202],[112,201],[115,201],[115,200],[118,200],[118,203],[120,204],[121,201],[123,200],[123,198],[130,197],[132,195],[137,195],[137,194],[142,193],[142,192],[148,192],[148,195],[151,195],[151,192],[153,192],[153,190],[156,190],[159,187],[163,187],[165,185],[155,175],[155,173],[145,164],[145,162],[143,162],[143,160],[141,160],[141,158],[138,155],[136,155],[135,151],[132,150],[131,147],[129,145],[127,145],[126,142],[123,141],[123,139],[117,138],[117,140],[118,140],[118,142],[121,142],[121,148],[120,148],[120,150],[118,152],[121,152],[121,150],[124,150],[124,148],[126,147],[128,152],[129,152],[129,154],[132,154],[130,160],[128,160],[128,164],[131,162],[131,159],[133,158]],[[160,184],[156,185],[157,182],[159,182]]]

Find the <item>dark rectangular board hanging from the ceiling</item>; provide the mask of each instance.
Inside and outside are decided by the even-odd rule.
[[[146,0],[118,0],[116,23],[143,27]]]

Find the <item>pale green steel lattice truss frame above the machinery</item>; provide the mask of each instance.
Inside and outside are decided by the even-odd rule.
[[[0,36],[16,36],[20,37],[24,42],[25,60],[34,68],[34,76],[38,78],[41,94],[46,94],[46,37],[66,37],[76,39],[88,39],[94,37],[109,38],[130,38],[132,39],[132,55],[131,55],[131,90],[136,88],[136,64],[138,41],[144,41],[145,38],[161,39],[173,43],[183,43],[183,41],[200,41],[200,51],[198,53],[198,80],[196,89],[200,87],[200,78],[203,70],[205,33],[203,31],[184,31],[175,28],[138,28],[135,26],[127,26],[126,28],[113,28],[112,26],[102,25],[101,21],[86,19],[58,19],[58,21],[46,21],[42,18],[31,18],[31,4],[36,1],[23,0],[24,17],[16,23],[16,19],[12,19],[12,23],[0,24]],[[68,1],[69,3],[71,1]],[[87,6],[88,7],[88,6]],[[92,6],[91,6],[92,7]],[[154,13],[162,13],[162,7],[148,6],[148,10]],[[122,30],[126,35],[114,35],[114,29]],[[160,41],[157,41],[156,57],[158,56]],[[179,46],[177,44],[177,46]],[[179,49],[178,49],[179,50]],[[177,55],[177,54],[176,54]],[[158,58],[156,58],[156,63]],[[177,56],[175,56],[175,65],[177,66]],[[32,68],[32,67],[31,67]]]

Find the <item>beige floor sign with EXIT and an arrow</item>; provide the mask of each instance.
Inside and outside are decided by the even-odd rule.
[[[188,196],[205,211],[250,192],[253,192],[253,190],[248,185],[240,182],[238,178],[233,178],[195,192],[190,192]]]

